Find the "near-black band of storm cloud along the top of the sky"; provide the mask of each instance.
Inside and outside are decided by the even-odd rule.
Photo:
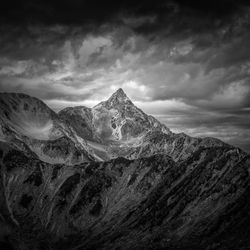
[[[125,22],[144,33],[172,27],[175,32],[199,32],[223,25],[248,4],[246,0],[9,0],[1,5],[0,21],[24,26]],[[169,21],[171,25],[166,27]]]

